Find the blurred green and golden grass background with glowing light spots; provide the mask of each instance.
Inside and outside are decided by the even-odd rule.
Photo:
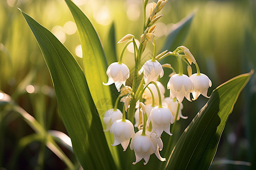
[[[115,42],[127,33],[139,39],[142,34],[142,2],[138,0],[107,1],[84,0],[75,3],[85,12],[96,28],[106,57],[109,51],[109,29],[114,23]],[[46,130],[59,130],[67,134],[57,111],[56,98],[48,69],[34,36],[17,7],[31,15],[52,31],[82,65],[79,36],[71,12],[61,0],[1,0],[0,1],[0,90],[9,94],[24,110],[30,113]],[[196,10],[191,29],[183,44],[199,63],[202,73],[212,80],[212,92],[221,83],[236,75],[256,68],[256,2],[237,1],[169,1],[163,8],[155,32],[157,49],[162,50],[166,35],[175,23]],[[117,56],[123,45],[117,45]],[[144,58],[149,58],[152,45],[148,43]],[[130,68],[133,54],[123,59]],[[172,64],[172,63],[171,63]],[[173,64],[172,64],[173,65]],[[175,67],[175,64],[174,64]],[[195,67],[193,67],[195,72]],[[166,73],[168,71],[165,69]],[[166,84],[164,84],[166,86]],[[166,90],[166,96],[169,91]],[[179,121],[183,131],[195,114],[207,102],[204,97],[189,103],[184,101]],[[256,86],[255,74],[238,98],[232,116],[222,134],[216,157],[210,169],[249,169],[244,165],[223,163],[223,160],[256,162]],[[25,137],[34,131],[18,114],[0,108],[0,167],[11,169],[64,169],[65,164],[40,140]],[[19,150],[18,146],[23,146]],[[73,162],[75,156],[61,147]],[[14,165],[15,163],[15,165]]]

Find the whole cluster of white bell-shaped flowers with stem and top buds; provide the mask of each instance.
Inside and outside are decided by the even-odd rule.
[[[188,101],[196,100],[200,94],[208,97],[208,88],[212,86],[208,76],[200,73],[196,59],[185,46],[179,46],[174,52],[166,50],[156,56],[155,23],[162,17],[162,15],[156,16],[156,14],[166,3],[167,1],[164,0],[159,0],[157,3],[153,2],[150,16],[148,16],[147,20],[144,20],[144,32],[141,36],[139,47],[135,44],[135,37],[131,34],[127,34],[118,41],[118,43],[128,42],[122,50],[119,61],[112,63],[106,71],[109,80],[108,83],[104,84],[110,85],[114,83],[120,94],[115,101],[114,108],[104,114],[105,131],[110,130],[110,133],[114,134],[113,146],[121,144],[123,151],[126,151],[130,143],[130,149],[134,150],[136,157],[133,164],[142,159],[145,161],[144,164],[147,164],[151,154],[155,154],[160,161],[165,161],[166,159],[162,158],[159,153],[163,149],[161,135],[164,132],[172,135],[172,131],[170,131],[171,124],[174,124],[180,118],[187,118],[181,114],[181,109],[183,109],[181,102],[184,97]],[[141,56],[146,48],[147,41],[151,41],[154,45],[154,54],[152,59],[146,61],[139,68],[142,64]],[[135,71],[133,87],[126,86],[130,71],[122,63],[123,52],[130,43],[134,45]],[[162,65],[160,61],[165,57],[176,57],[177,63],[179,63],[179,71],[176,72],[170,63]],[[188,65],[188,75],[190,76],[183,74],[183,61]],[[196,66],[197,73],[195,74],[192,74],[192,63]],[[158,81],[159,77],[162,78],[164,74],[163,66],[172,70],[169,73],[170,80],[167,84],[164,84],[170,90],[169,97],[164,97],[166,88]],[[138,76],[141,74],[143,74],[142,79]],[[141,83],[137,84],[139,81]],[[192,100],[191,94],[193,96]],[[117,109],[119,101],[124,103],[122,112]],[[133,125],[134,118],[135,124]],[[136,133],[135,130],[137,131]]]

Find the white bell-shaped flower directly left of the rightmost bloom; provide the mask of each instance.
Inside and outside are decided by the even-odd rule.
[[[171,99],[176,97],[179,103],[181,103],[184,97],[186,97],[188,101],[191,101],[190,92],[193,90],[193,83],[187,75],[172,75],[167,84],[167,88],[170,89]]]

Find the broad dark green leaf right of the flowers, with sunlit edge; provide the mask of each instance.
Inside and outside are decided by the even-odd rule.
[[[251,73],[217,87],[207,104],[184,130],[172,150],[167,169],[208,169],[216,154],[226,121]]]

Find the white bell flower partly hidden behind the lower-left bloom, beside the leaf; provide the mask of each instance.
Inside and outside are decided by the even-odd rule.
[[[117,111],[114,111],[114,109],[109,109],[104,113],[104,124],[106,125],[106,130],[104,131],[109,131],[110,127],[114,123],[114,121],[119,120],[122,118],[122,112],[117,109]]]

